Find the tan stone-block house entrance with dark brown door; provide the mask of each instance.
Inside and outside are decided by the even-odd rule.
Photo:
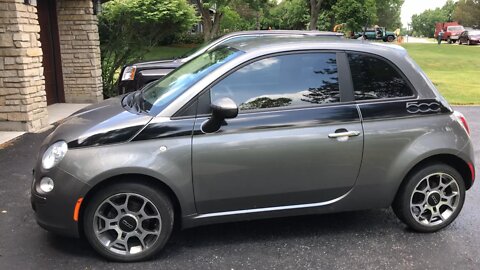
[[[103,99],[98,1],[0,0],[0,131],[38,131],[47,105]]]

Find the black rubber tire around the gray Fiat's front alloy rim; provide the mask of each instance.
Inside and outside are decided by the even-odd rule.
[[[109,250],[99,240],[94,229],[95,213],[97,208],[101,206],[107,198],[111,198],[116,194],[138,194],[148,199],[158,210],[161,222],[158,222],[160,227],[160,233],[153,241],[152,245],[145,248],[143,251],[136,254],[117,254]],[[141,221],[141,220],[140,220]],[[137,224],[141,223],[137,221]],[[88,202],[83,214],[83,229],[87,241],[92,248],[100,255],[112,261],[119,262],[133,262],[146,260],[157,254],[167,243],[173,229],[174,222],[174,209],[173,205],[164,192],[158,189],[154,189],[151,186],[146,186],[139,183],[124,182],[111,186],[107,186],[97,192]],[[120,221],[118,223],[121,223]],[[139,225],[137,225],[139,226]],[[142,225],[143,226],[143,225]],[[118,228],[120,228],[118,224]],[[137,227],[138,228],[138,227]],[[143,228],[142,228],[143,229]],[[115,237],[113,237],[115,238]]]

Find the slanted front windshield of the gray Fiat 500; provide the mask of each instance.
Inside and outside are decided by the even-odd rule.
[[[205,52],[142,90],[143,110],[156,115],[210,72],[243,54],[231,47]]]

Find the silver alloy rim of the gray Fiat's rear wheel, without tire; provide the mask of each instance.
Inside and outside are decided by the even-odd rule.
[[[433,173],[424,177],[410,198],[410,213],[425,226],[436,226],[447,221],[460,202],[457,181],[446,173]]]

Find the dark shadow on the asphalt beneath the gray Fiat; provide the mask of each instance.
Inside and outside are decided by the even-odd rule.
[[[272,218],[206,225],[186,230],[174,230],[162,252],[153,260],[185,256],[188,250],[234,248],[239,244],[255,244],[311,237],[348,237],[351,234],[375,235],[412,232],[395,217],[391,210],[366,210],[335,214]],[[413,233],[413,232],[412,232]],[[84,239],[72,239],[48,234],[48,244],[58,252],[75,257],[102,260]]]

